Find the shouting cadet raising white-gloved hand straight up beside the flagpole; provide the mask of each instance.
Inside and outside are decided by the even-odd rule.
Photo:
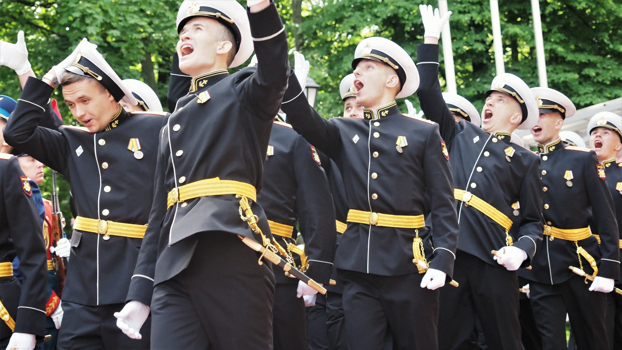
[[[440,292],[439,346],[472,346],[477,317],[489,348],[522,349],[516,270],[529,265],[542,240],[542,187],[537,155],[510,140],[514,129],[529,129],[537,121],[536,99],[520,78],[500,74],[486,93],[482,127],[455,122],[447,108],[439,108],[445,106],[437,45],[443,22],[431,7],[420,10],[425,44],[417,47],[419,101],[447,142],[460,222],[454,272],[460,287]],[[517,201],[521,221],[511,236],[511,205]],[[493,256],[493,250],[503,257]]]

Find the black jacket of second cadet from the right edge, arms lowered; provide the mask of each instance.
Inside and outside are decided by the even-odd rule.
[[[618,225],[616,224],[613,200],[607,190],[605,173],[599,177],[600,165],[593,150],[564,146],[557,139],[545,146],[539,145],[542,178],[542,214],[547,225],[559,229],[587,228],[590,221],[594,234],[599,234],[601,246],[596,237],[590,236],[577,242],[598,264],[598,276],[608,279],[620,277],[620,249],[618,248]],[[615,164],[614,164],[615,165]],[[572,172],[572,180],[564,178]],[[571,182],[569,186],[567,182]],[[531,262],[531,271],[521,271],[526,279],[539,283],[558,284],[574,276],[570,265],[579,267],[577,244],[574,241],[549,237],[538,246],[538,254]],[[585,258],[581,258],[583,269],[592,274]]]

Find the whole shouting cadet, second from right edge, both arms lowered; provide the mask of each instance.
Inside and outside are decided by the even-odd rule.
[[[537,247],[532,270],[521,270],[519,275],[530,281],[530,300],[542,348],[566,347],[568,313],[579,349],[605,349],[605,293],[613,290],[614,280],[620,277],[619,233],[605,168],[595,152],[564,146],[559,137],[565,118],[577,110],[572,101],[550,88],[531,91],[539,108],[531,134],[542,160],[545,239]],[[595,224],[590,225],[591,221]],[[593,282],[574,274],[570,266],[591,275]]]

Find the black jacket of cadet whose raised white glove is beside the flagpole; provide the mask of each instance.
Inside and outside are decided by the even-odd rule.
[[[439,45],[418,45],[417,60],[423,62],[417,64],[421,109],[427,119],[439,123],[440,135],[447,142],[451,158],[455,188],[470,191],[508,218],[513,218],[512,203],[521,203],[521,222],[513,240],[515,247],[527,253],[522,264],[526,267],[544,230],[539,158],[530,150],[511,144],[509,133],[492,135],[471,122],[455,122],[449,109],[441,108],[445,101],[436,63],[439,62]],[[508,147],[516,152],[506,159]],[[464,206],[462,201],[457,201],[456,209],[460,223],[458,249],[497,265],[490,251],[506,246],[505,229],[481,211]],[[435,224],[432,226],[436,232]]]

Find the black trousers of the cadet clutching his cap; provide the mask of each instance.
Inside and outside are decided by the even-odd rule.
[[[131,339],[116,326],[115,312],[124,304],[86,306],[63,302],[58,350],[149,349],[151,318],[141,328],[142,339]]]

